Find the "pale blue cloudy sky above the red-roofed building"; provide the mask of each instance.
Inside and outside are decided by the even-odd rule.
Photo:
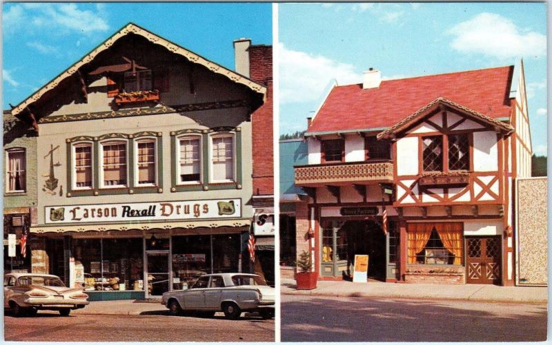
[[[546,154],[546,4],[279,4],[280,133],[306,128],[331,79],[359,83],[515,65],[522,57],[535,154]]]

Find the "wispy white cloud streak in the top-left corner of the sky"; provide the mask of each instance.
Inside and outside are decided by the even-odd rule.
[[[95,11],[81,10],[76,3],[18,3],[10,6],[3,14],[3,28],[9,33],[30,30],[29,23],[36,30],[52,32],[69,31],[92,34],[109,29],[106,13],[102,6]]]

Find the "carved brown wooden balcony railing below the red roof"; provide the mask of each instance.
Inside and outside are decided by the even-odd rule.
[[[393,162],[391,160],[295,167],[295,185],[297,187],[371,185],[379,182],[393,182]]]

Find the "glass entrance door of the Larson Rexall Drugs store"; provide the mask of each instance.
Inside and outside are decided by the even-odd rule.
[[[146,251],[146,298],[161,297],[169,290],[169,251]]]

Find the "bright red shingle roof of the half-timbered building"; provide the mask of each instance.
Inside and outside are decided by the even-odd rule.
[[[510,115],[513,66],[337,86],[314,118],[308,133],[391,127],[435,98],[443,97],[491,118]]]

